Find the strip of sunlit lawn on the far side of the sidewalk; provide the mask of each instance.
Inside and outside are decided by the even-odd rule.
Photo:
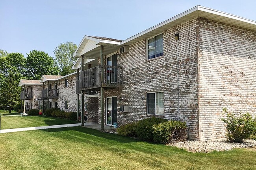
[[[2,117],[1,129],[26,128],[72,123],[78,123],[78,121],[45,116],[10,116]]]

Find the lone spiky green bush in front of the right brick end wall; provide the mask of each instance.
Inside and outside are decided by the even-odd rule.
[[[228,113],[226,108],[223,108],[224,114],[227,118],[222,118],[221,121],[226,123],[226,138],[230,142],[241,143],[243,139],[248,139],[253,135],[255,130],[255,120],[249,113],[236,116],[232,113]]]

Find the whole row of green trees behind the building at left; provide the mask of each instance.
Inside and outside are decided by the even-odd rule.
[[[40,80],[42,75],[72,73],[76,48],[73,42],[61,43],[54,49],[55,57],[35,49],[27,57],[0,49],[0,110],[20,108],[20,79]]]

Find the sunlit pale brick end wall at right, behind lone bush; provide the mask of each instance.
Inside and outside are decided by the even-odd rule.
[[[200,140],[224,137],[222,108],[256,115],[256,32],[199,18]]]

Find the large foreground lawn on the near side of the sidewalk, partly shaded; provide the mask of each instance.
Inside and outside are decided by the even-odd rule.
[[[0,134],[3,170],[245,170],[256,152],[190,153],[89,128],[72,127]]]

